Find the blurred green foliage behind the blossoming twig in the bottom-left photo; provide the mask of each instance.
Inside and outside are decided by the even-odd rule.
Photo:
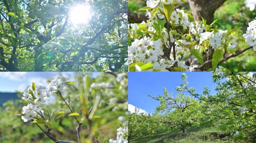
[[[128,125],[128,76],[125,73],[119,74],[122,74],[122,78],[120,75],[118,77],[118,73],[98,73],[95,76],[92,73],[79,72],[74,77],[74,83],[65,86],[66,88],[62,90],[66,101],[68,101],[68,95],[70,96],[71,108],[80,114],[79,119],[82,118],[82,114],[89,116],[90,110],[93,110],[96,96],[100,97],[94,113],[95,118],[85,118],[81,126],[80,140],[82,143],[96,142],[93,134],[98,130],[100,130],[99,139],[101,137],[116,139],[116,129]],[[66,77],[60,76],[59,78],[67,81]],[[111,83],[113,88],[90,90],[91,83],[103,82]],[[15,87],[13,88],[15,89]],[[53,121],[51,133],[60,140],[77,141],[77,124],[74,118],[68,117],[68,107],[59,96],[51,96],[50,102],[43,106],[43,110],[46,111],[47,108],[49,112],[54,111],[54,114],[65,111],[63,116]],[[17,115],[15,111],[21,112],[22,107],[27,105],[27,102],[21,99],[21,95],[18,97],[19,99],[10,99],[0,106],[0,142],[54,143],[35,124],[29,121],[25,123],[21,116]]]

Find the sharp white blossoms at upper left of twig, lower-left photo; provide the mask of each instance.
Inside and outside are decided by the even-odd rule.
[[[24,122],[31,119],[36,120],[34,117],[36,117],[38,113],[42,115],[44,114],[44,111],[39,107],[39,105],[45,104],[46,101],[49,101],[49,96],[53,92],[61,90],[63,88],[63,82],[61,79],[54,79],[48,84],[47,88],[42,85],[34,86],[34,88],[33,86],[31,87],[29,85],[22,91],[22,99],[30,102],[30,104],[22,108],[21,118]]]

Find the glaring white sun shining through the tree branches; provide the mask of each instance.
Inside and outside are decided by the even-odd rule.
[[[73,25],[84,25],[89,22],[91,14],[90,6],[79,4],[71,9],[69,18]]]

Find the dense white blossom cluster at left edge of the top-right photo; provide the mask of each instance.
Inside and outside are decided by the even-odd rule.
[[[174,42],[172,34],[170,33],[171,42]],[[165,32],[164,41],[168,41],[168,34]],[[176,42],[176,56],[178,53],[183,50],[183,47],[179,46]],[[187,44],[184,42],[183,44]],[[152,63],[155,70],[167,71],[166,68],[173,66],[174,63],[177,62],[179,67],[183,67],[186,71],[188,71],[188,66],[185,65],[184,61],[179,61],[178,59],[173,60],[172,54],[170,55],[170,60],[162,58],[164,55],[162,49],[162,41],[158,39],[156,41],[152,41],[149,37],[144,37],[143,39],[135,39],[132,42],[131,46],[128,46],[128,59],[129,64],[135,62],[143,62],[143,63]],[[184,51],[183,51],[184,52]],[[139,69],[138,69],[139,71]]]

